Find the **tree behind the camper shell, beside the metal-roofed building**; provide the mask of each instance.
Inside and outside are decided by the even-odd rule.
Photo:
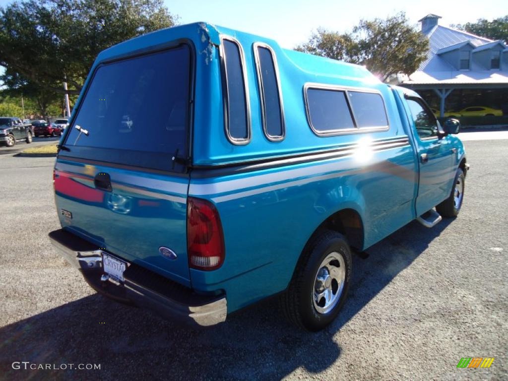
[[[428,40],[401,12],[386,20],[361,20],[352,33],[318,29],[297,50],[360,63],[386,81],[398,73],[414,73],[427,57],[428,48]]]

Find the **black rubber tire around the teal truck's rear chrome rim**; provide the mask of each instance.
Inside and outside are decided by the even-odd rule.
[[[330,282],[328,286],[330,290],[333,289],[333,284],[337,287],[336,297],[332,295],[332,299],[335,297],[335,302],[330,305],[330,310],[323,313],[318,311],[315,307],[314,292],[318,284],[316,277],[324,269],[324,267],[322,267],[323,262],[327,258],[330,258],[331,255],[340,256],[342,258],[344,279],[342,281],[342,287],[338,285],[337,281],[335,281],[335,283],[333,283],[333,280]],[[340,266],[338,266],[339,261],[332,262],[335,262],[334,266],[340,269]],[[330,262],[330,264],[332,262]],[[280,298],[281,307],[285,316],[293,324],[308,331],[316,332],[324,329],[333,322],[342,308],[347,297],[351,276],[351,250],[345,237],[330,230],[324,230],[315,235],[307,244],[289,287]],[[340,294],[339,289],[341,289]],[[323,299],[321,299],[321,301],[323,301]]]

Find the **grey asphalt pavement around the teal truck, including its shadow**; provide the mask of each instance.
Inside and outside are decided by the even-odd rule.
[[[508,142],[465,147],[459,217],[355,256],[343,310],[314,334],[275,299],[193,330],[96,294],[47,238],[54,158],[2,155],[0,379],[508,379]],[[459,369],[463,357],[495,360]],[[13,369],[23,361],[57,369]]]

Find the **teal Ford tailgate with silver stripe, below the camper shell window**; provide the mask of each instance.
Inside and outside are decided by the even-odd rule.
[[[94,183],[103,174],[111,179],[111,191]],[[190,285],[188,178],[94,166],[59,157],[54,187],[63,228],[121,258]],[[176,258],[161,255],[161,247],[171,249]]]

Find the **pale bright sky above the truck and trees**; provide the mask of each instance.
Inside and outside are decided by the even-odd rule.
[[[494,19],[508,14],[506,0],[164,0],[180,24],[206,21],[269,37],[292,49],[305,42],[318,27],[351,30],[361,19],[386,18],[404,11],[412,24],[433,13],[440,25],[463,24],[478,18]],[[12,3],[0,0],[0,7]],[[0,74],[2,73],[0,67]]]

